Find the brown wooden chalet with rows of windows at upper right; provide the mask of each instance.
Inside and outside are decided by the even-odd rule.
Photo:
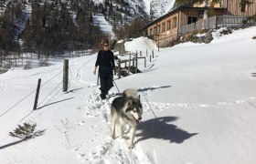
[[[215,4],[211,16],[214,15],[255,15],[256,0],[222,0]],[[243,2],[245,2],[243,4]],[[211,0],[197,3],[192,6],[177,6],[167,14],[159,17],[154,22],[144,26],[144,36],[148,36],[158,42],[159,46],[165,46],[180,34],[182,26],[187,26],[207,17],[208,6]]]

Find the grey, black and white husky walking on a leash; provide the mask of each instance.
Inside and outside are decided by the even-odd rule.
[[[123,92],[124,93],[124,92]],[[118,128],[119,138],[123,138],[123,126],[128,124],[130,126],[130,141],[129,149],[134,148],[134,137],[137,129],[137,124],[142,119],[143,106],[140,96],[127,93],[137,93],[133,89],[126,89],[125,96],[116,97],[112,101],[111,107],[111,121],[112,121],[112,138],[115,138],[115,128]]]

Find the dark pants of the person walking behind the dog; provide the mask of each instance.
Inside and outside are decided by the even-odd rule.
[[[112,68],[100,67],[100,80],[101,80],[101,98],[106,98],[109,90],[113,87],[112,84]]]

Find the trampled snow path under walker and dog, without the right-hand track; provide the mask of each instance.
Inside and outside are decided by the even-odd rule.
[[[139,143],[136,144],[135,149],[128,149],[126,141],[130,137],[128,134],[128,129],[126,129],[123,139],[111,138],[111,122],[109,116],[111,112],[110,104],[114,97],[109,97],[108,100],[102,101],[101,97],[99,96],[101,93],[99,89],[100,86],[88,81],[88,75],[86,75],[85,72],[88,73],[88,69],[91,69],[91,63],[93,63],[95,60],[95,56],[89,57],[90,58],[85,63],[83,63],[83,61],[76,60],[71,64],[73,66],[80,66],[75,68],[75,70],[70,70],[74,76],[72,77],[71,83],[73,85],[82,85],[83,90],[86,90],[86,92],[89,93],[88,98],[86,98],[86,106],[82,107],[80,102],[75,102],[76,106],[83,111],[83,115],[79,120],[77,120],[77,126],[80,127],[84,125],[85,121],[83,118],[97,118],[98,121],[106,125],[108,130],[105,130],[102,133],[97,128],[98,126],[92,126],[91,128],[95,130],[97,134],[99,134],[99,136],[96,136],[96,138],[100,143],[96,142],[97,144],[94,145],[95,149],[89,150],[84,148],[84,145],[80,145],[72,149],[72,151],[76,152],[77,157],[80,158],[81,161],[90,163],[155,163],[153,160],[154,158],[151,155],[144,154],[144,150],[141,148]],[[118,95],[118,93],[114,88],[112,88],[109,95],[114,96]]]

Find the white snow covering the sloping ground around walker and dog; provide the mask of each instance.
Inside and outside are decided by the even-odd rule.
[[[69,59],[68,93],[61,88],[62,61],[9,70],[0,75],[0,163],[254,164],[253,36],[256,27],[229,36],[217,32],[208,45],[155,50],[151,63],[149,57],[146,67],[139,63],[143,73],[115,77],[119,90],[137,88],[144,106],[132,150],[127,148],[128,134],[110,137],[113,97],[101,102],[92,75],[96,55]],[[142,45],[134,42],[132,47],[140,50]],[[38,107],[32,111],[38,78]],[[112,87],[111,94],[117,92]],[[37,123],[37,137],[19,141],[8,136],[25,121]]]

